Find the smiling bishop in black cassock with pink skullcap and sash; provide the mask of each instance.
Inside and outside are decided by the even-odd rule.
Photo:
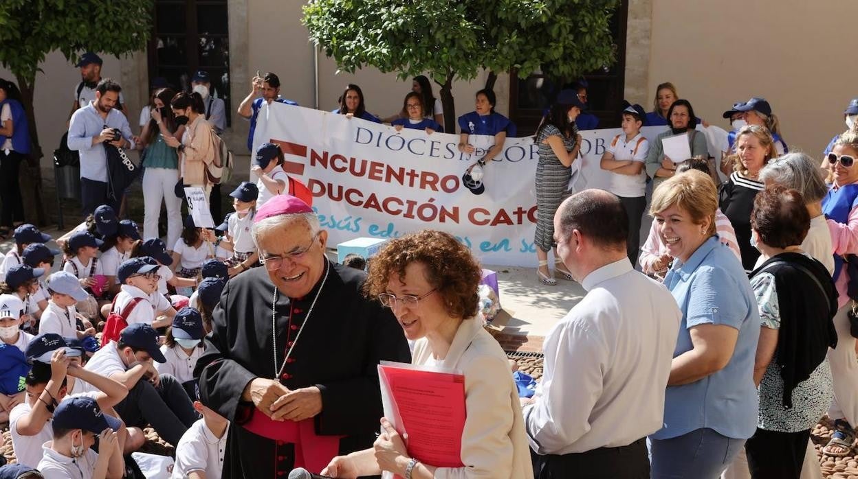
[[[255,233],[263,220],[269,226],[281,220],[282,227],[257,237],[267,264],[227,283],[196,364],[201,397],[232,422],[225,479],[286,477],[295,467],[318,473],[335,455],[372,446],[383,416],[378,362],[411,359],[394,315],[363,296],[365,273],[328,260],[326,231],[314,231],[302,217],[311,214],[309,207],[289,198],[278,201],[282,205],[270,200],[257,213]],[[293,392],[301,398],[284,405],[281,415],[300,404],[287,416],[307,416],[305,404],[313,402],[304,399],[314,395],[321,410],[297,421],[272,421],[255,405],[264,409],[270,401],[262,404],[250,392],[265,382],[257,379],[275,379],[290,392],[284,398]],[[266,394],[276,388],[269,382]]]

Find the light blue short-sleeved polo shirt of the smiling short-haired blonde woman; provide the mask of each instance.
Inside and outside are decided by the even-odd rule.
[[[702,324],[739,330],[727,366],[702,380],[668,386],[664,427],[650,437],[670,439],[700,428],[733,439],[747,439],[757,429],[757,388],[753,362],[760,320],[751,283],[730,249],[710,237],[685,264],[674,261],[664,278],[682,310],[674,357],[692,350],[689,328]]]

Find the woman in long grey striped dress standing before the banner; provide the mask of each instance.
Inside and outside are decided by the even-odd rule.
[[[542,123],[536,129],[534,141],[539,147],[536,165],[536,258],[537,276],[542,284],[553,286],[557,280],[548,269],[548,251],[554,248],[554,213],[569,196],[572,162],[581,149],[581,135],[575,118],[583,109],[575,90],[562,90]],[[572,279],[569,270],[554,250],[554,272],[561,278]]]

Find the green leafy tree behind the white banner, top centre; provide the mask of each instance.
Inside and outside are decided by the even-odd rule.
[[[452,81],[537,69],[558,81],[615,61],[608,28],[619,0],[313,0],[310,38],[341,70],[400,78],[427,72],[455,131]]]

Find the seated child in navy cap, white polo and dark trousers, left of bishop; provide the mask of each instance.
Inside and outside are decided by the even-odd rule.
[[[98,350],[86,369],[128,388],[128,397],[115,409],[129,427],[151,424],[161,438],[178,444],[199,416],[182,384],[154,368],[153,362],[166,361],[158,343],[158,332],[152,326],[131,324],[119,334],[118,341]]]

